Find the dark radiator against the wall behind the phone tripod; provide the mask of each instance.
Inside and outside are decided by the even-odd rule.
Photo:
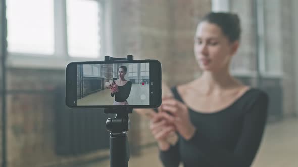
[[[65,105],[65,86],[55,92],[56,152],[77,155],[109,148],[107,118],[103,109],[69,109]]]

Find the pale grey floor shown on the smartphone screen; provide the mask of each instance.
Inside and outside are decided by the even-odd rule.
[[[144,95],[146,99],[141,99]],[[82,99],[77,100],[77,105],[113,105],[115,97],[111,97],[110,90],[90,94]],[[127,99],[129,105],[148,105],[149,104],[149,86],[140,87],[139,84],[132,84],[130,95]]]

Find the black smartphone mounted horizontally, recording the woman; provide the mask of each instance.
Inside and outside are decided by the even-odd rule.
[[[65,101],[70,108],[157,108],[161,84],[158,60],[71,62]]]

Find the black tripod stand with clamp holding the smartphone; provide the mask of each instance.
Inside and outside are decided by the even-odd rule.
[[[127,58],[113,58],[105,56],[105,61],[133,60],[132,55]],[[110,166],[128,167],[129,145],[127,140],[127,131],[130,129],[129,113],[132,108],[117,107],[105,108],[105,113],[116,114],[115,118],[108,118],[106,128],[110,133]]]

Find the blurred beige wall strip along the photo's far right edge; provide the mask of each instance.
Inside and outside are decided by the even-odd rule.
[[[294,1],[281,1],[281,24],[280,30],[282,34],[281,38],[281,55],[282,71],[283,71],[283,104],[285,116],[297,116],[297,109],[295,104],[297,103],[297,94],[295,90],[298,90],[298,83],[296,82],[297,73],[295,62],[295,24],[297,23],[295,10],[291,10],[294,5]],[[296,6],[298,7],[298,6]]]

